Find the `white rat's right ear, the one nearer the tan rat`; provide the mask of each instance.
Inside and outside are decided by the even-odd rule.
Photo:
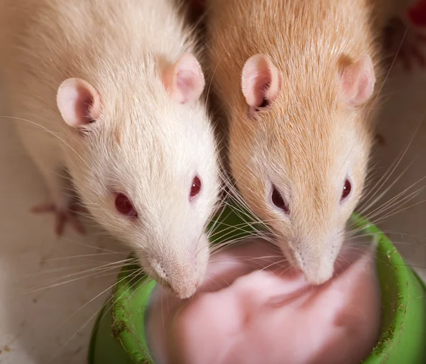
[[[205,81],[197,58],[190,53],[181,55],[175,65],[165,71],[163,84],[170,97],[179,104],[200,99]]]

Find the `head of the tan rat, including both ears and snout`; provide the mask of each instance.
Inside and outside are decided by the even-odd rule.
[[[306,65],[286,73],[255,55],[242,70],[245,102],[230,123],[231,170],[251,210],[313,284],[332,277],[364,189],[371,132],[360,106],[374,83],[368,56],[321,74]]]

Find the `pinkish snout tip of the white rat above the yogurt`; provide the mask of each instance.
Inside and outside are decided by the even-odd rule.
[[[187,262],[167,262],[151,260],[158,284],[170,290],[180,299],[186,299],[195,294],[200,284],[200,272],[197,260]]]

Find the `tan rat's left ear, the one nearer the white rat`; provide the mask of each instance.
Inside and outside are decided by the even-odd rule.
[[[241,88],[246,103],[258,107],[272,101],[280,90],[280,72],[268,55],[253,55],[241,73]]]

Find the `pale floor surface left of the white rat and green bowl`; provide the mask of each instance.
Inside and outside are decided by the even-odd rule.
[[[124,248],[94,228],[80,238],[67,226],[58,239],[53,215],[28,211],[45,201],[46,190],[5,118],[0,171],[0,363],[87,363],[94,318],[108,297],[101,293],[117,270],[84,270],[125,259],[126,253],[109,253]],[[61,282],[67,283],[34,292]]]

